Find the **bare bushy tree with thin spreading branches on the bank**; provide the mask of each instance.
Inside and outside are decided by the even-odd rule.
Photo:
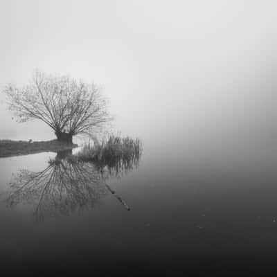
[[[8,84],[4,92],[19,122],[42,120],[54,130],[58,141],[72,143],[77,134],[93,135],[111,120],[99,89],[69,76],[36,71],[26,87]]]

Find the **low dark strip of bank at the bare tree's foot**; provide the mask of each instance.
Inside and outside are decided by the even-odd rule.
[[[19,155],[35,154],[40,152],[59,152],[62,150],[70,150],[78,145],[68,145],[60,141],[0,141],[0,157],[12,157]]]

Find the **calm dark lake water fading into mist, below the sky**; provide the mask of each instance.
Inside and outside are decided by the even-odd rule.
[[[147,143],[143,148],[139,167],[107,178],[130,211],[97,181],[89,184],[91,198],[86,184],[69,188],[66,199],[62,193],[59,197],[58,187],[44,192],[46,175],[42,184],[34,182],[7,201],[19,189],[13,181],[43,172],[56,154],[0,159],[1,264],[37,276],[80,271],[205,275],[239,267],[254,273],[274,266],[277,170],[272,151],[202,156]],[[25,170],[21,175],[20,169]],[[67,173],[60,172],[60,179]]]

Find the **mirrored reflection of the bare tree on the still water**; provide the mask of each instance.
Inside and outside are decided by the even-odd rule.
[[[112,193],[129,210],[123,199],[106,183],[114,175],[110,167],[98,168],[93,163],[78,162],[73,156],[64,156],[64,153],[58,153],[56,159],[49,161],[49,165],[40,172],[20,170],[10,184],[8,205],[34,204],[35,217],[43,220],[44,217],[69,215],[73,211],[93,207],[98,199]],[[119,168],[117,165],[117,174]],[[128,169],[125,167],[125,170]]]

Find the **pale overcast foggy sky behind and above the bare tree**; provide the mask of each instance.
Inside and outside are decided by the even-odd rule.
[[[276,14],[265,0],[1,0],[0,85],[35,69],[94,80],[115,130],[145,140],[265,134],[276,126]],[[0,118],[0,139],[53,137],[4,105]]]

